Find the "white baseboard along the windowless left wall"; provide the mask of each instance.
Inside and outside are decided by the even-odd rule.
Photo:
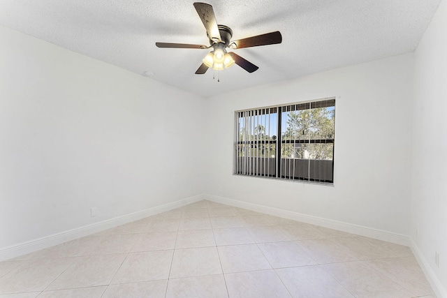
[[[164,211],[176,209],[186,204],[191,204],[193,202],[198,202],[204,199],[205,197],[203,195],[196,195],[191,198],[185,198],[183,200],[178,200],[176,202],[171,202],[168,204],[163,204],[161,206],[152,207],[142,211],[137,211],[132,214],[117,216],[115,218],[110,218],[108,220],[101,221],[98,223],[92,223],[91,225],[85,225],[80,228],[75,228],[72,230],[59,232],[57,234],[52,234],[38,239],[22,242],[20,244],[15,244],[13,246],[0,248],[0,262],[12,258],[17,258],[20,257],[21,255],[26,255],[28,253],[33,253],[34,251],[39,251],[43,248],[61,244],[66,241],[71,241],[73,239],[85,237],[88,236],[89,234],[94,234],[97,232],[101,232],[103,230],[115,228],[118,225],[124,225],[125,223],[131,223],[132,221],[138,221],[139,219],[146,218],[147,216],[152,216]]]

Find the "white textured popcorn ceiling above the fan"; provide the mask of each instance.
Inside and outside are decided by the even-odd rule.
[[[441,0],[207,0],[233,40],[281,31],[283,42],[235,50],[259,66],[195,75],[210,50],[193,1],[0,0],[0,24],[152,79],[212,96],[415,50]],[[216,73],[217,75],[217,73]]]

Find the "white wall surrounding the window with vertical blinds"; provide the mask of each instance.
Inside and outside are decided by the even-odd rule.
[[[210,195],[409,234],[413,54],[214,96]],[[233,176],[234,111],[337,96],[334,186]]]

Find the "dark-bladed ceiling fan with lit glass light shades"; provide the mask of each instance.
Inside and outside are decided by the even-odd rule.
[[[207,54],[203,59],[202,65],[196,70],[197,75],[206,73],[208,68],[214,70],[221,70],[237,64],[244,68],[249,73],[258,70],[258,66],[252,64],[246,59],[240,57],[234,52],[227,52],[227,49],[241,49],[243,47],[258,47],[260,45],[274,45],[281,43],[282,36],[279,31],[261,34],[258,36],[251,36],[249,38],[242,38],[240,40],[230,41],[233,36],[233,31],[230,27],[217,24],[216,17],[212,6],[207,3],[194,3],[200,19],[205,25],[207,36],[210,39],[210,46],[206,45],[191,45],[186,43],[155,43],[157,47],[171,47],[182,49],[209,49],[213,48],[212,52]]]

